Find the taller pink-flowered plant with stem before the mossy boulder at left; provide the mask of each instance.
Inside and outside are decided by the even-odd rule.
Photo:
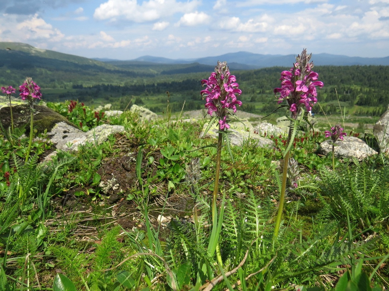
[[[42,97],[42,94],[40,93],[40,87],[35,83],[32,78],[27,77],[24,83],[19,86],[19,92],[20,92],[20,98],[22,100],[27,100],[28,104],[30,105],[30,139],[28,141],[28,147],[26,150],[26,162],[28,161],[28,158],[30,157],[30,151],[32,146],[32,139],[33,139],[33,125],[34,125],[34,103],[37,100],[40,100]]]

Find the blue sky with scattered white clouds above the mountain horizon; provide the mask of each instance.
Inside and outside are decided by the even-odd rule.
[[[389,56],[389,0],[2,0],[0,42],[88,58]]]

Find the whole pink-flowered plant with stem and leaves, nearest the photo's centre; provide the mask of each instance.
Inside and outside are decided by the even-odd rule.
[[[230,137],[231,133],[228,129],[230,125],[230,116],[235,116],[237,112],[237,106],[241,106],[242,102],[238,100],[238,96],[242,94],[239,89],[237,79],[234,75],[231,75],[228,69],[227,62],[217,62],[215,71],[211,73],[208,80],[202,80],[202,85],[205,89],[201,91],[203,99],[205,98],[205,108],[208,109],[211,120],[205,130],[204,135],[209,131],[212,125],[215,123],[219,126],[218,140],[217,140],[217,157],[216,157],[216,175],[215,185],[212,197],[212,232],[209,239],[209,246],[207,252],[210,256],[216,251],[217,261],[222,274],[223,264],[221,261],[221,253],[219,248],[219,234],[221,231],[221,223],[223,222],[223,205],[224,197],[220,211],[220,218],[217,219],[216,201],[219,186],[220,176],[220,164],[221,164],[221,149],[222,143],[226,144],[226,147],[230,153],[231,160],[233,161],[232,152],[230,149]]]

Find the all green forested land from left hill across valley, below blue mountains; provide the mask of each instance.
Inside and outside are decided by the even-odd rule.
[[[315,62],[314,56],[312,60]],[[203,108],[200,81],[214,69],[199,63],[108,64],[23,43],[0,43],[0,67],[0,86],[17,88],[31,76],[42,87],[47,101],[109,102],[117,108],[136,103],[157,113],[166,109],[167,96],[173,111],[180,111],[184,101],[185,110]],[[243,92],[243,109],[260,114],[275,109],[273,89],[280,87],[280,73],[285,69],[289,67],[231,69]],[[328,113],[338,108],[336,94],[350,113],[377,115],[389,104],[389,66],[315,66],[314,70],[324,82],[318,99]]]

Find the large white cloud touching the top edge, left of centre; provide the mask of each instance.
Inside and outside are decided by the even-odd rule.
[[[200,5],[200,0],[180,2],[177,0],[149,0],[138,5],[137,0],[108,0],[96,8],[93,17],[98,20],[117,21],[127,19],[133,22],[146,22],[172,16],[175,13],[188,13]]]

